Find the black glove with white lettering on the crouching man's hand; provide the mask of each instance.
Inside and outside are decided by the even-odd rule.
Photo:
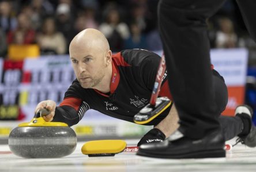
[[[147,132],[138,142],[137,146],[141,144],[151,143],[151,142],[163,142],[165,139],[165,135],[157,128],[153,128],[149,132]]]

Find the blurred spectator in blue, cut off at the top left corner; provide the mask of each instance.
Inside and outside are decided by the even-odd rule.
[[[12,4],[9,1],[0,1],[0,28],[7,33],[16,29],[17,20],[12,13]]]

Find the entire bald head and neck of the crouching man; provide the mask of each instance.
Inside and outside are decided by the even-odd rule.
[[[83,88],[110,91],[112,52],[107,38],[96,29],[85,29],[69,46],[71,64]]]

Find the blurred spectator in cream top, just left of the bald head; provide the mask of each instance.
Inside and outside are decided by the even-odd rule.
[[[37,44],[41,54],[66,53],[66,40],[61,32],[56,31],[54,18],[46,18],[43,22],[42,33],[37,36]]]

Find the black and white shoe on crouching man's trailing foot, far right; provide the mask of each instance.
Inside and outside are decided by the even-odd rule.
[[[249,125],[247,126],[249,127],[249,133],[242,134],[242,135],[239,134],[238,135],[239,138],[236,140],[236,143],[233,146],[235,146],[238,143],[242,143],[249,147],[255,147],[256,146],[256,127],[251,121],[251,118],[253,117],[253,109],[248,105],[239,105],[238,107],[236,107],[235,115],[239,116],[242,119],[242,121],[244,120],[246,121],[247,125]]]

